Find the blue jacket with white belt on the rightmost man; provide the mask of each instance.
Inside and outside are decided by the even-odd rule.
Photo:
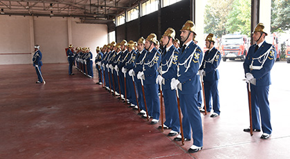
[[[262,46],[260,46],[256,52],[255,46],[256,44],[248,48],[248,55],[246,55],[244,61],[244,71],[245,73],[253,74],[256,79],[256,86],[269,86],[271,84],[271,68],[275,63],[275,58],[277,56],[276,50],[273,45],[266,43],[266,41],[264,41]],[[260,57],[260,59],[255,59],[258,57]],[[250,68],[252,62],[253,66],[262,66],[262,61],[264,60],[264,65],[260,70]]]

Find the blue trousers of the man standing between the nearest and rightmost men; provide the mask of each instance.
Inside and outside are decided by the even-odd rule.
[[[219,91],[217,90],[217,85],[219,80],[213,81],[203,81],[204,93],[206,95],[206,111],[210,112],[213,106],[213,112],[219,115]],[[212,104],[211,104],[212,100]]]

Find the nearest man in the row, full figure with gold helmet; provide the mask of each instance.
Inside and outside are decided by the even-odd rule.
[[[197,94],[201,90],[198,71],[203,55],[201,48],[192,41],[195,35],[194,23],[186,21],[180,35],[183,47],[181,53],[175,58],[177,78],[172,78],[171,82],[171,88],[178,89],[179,92],[185,140],[190,140],[192,131],[193,144],[188,149],[189,153],[200,151],[203,147],[201,113],[197,104]],[[181,140],[181,136],[178,135],[174,140]]]

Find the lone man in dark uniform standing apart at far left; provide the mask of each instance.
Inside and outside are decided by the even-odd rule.
[[[40,52],[39,50],[39,45],[35,45],[34,46],[34,55],[33,55],[33,66],[35,66],[35,71],[37,74],[37,84],[43,83],[43,79],[42,79],[42,52]]]

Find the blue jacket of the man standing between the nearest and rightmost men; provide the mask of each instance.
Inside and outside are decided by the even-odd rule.
[[[214,81],[219,79],[219,71],[217,70],[219,62],[221,62],[221,53],[217,50],[217,48],[213,47],[212,50],[206,51],[201,68],[199,68],[199,70],[203,69],[203,71],[206,71],[206,75],[203,76],[203,80]]]

